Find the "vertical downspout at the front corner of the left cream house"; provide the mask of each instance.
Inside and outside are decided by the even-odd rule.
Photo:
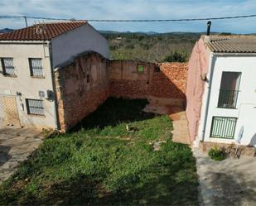
[[[50,62],[51,62],[51,87],[52,87],[52,90],[53,90],[53,102],[54,102],[54,120],[56,122],[56,129],[60,129],[60,126],[59,126],[59,121],[58,121],[58,105],[57,105],[57,98],[56,98],[56,86],[55,86],[55,75],[54,75],[54,70],[53,70],[53,62],[52,62],[52,48],[51,48],[51,42],[48,42],[48,48],[49,48],[49,55],[50,55]]]

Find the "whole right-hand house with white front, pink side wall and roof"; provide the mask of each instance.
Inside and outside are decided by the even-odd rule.
[[[256,146],[256,36],[201,36],[186,96],[191,141]]]

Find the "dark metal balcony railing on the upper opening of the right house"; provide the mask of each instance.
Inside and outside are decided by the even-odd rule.
[[[239,90],[220,89],[218,108],[236,108]]]

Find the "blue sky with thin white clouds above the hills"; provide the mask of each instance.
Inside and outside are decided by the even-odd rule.
[[[256,14],[256,0],[1,0],[0,16],[36,16],[75,19],[178,19]],[[192,31],[206,30],[199,22],[89,22],[98,30]],[[29,20],[29,25],[35,20]],[[23,19],[0,19],[0,28],[21,28]],[[256,17],[212,21],[211,31],[256,33]]]

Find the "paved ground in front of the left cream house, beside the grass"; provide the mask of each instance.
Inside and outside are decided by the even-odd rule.
[[[32,129],[0,128],[0,184],[41,144],[40,133]]]

